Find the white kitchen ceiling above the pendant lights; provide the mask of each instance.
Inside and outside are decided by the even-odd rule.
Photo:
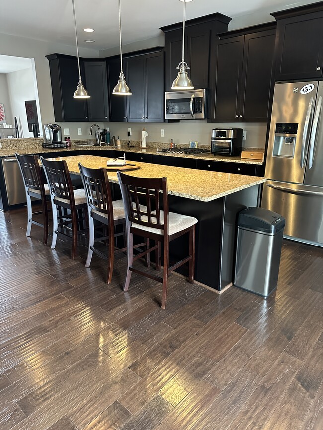
[[[220,12],[231,18],[261,15],[260,22],[272,20],[269,12],[315,3],[315,0],[194,0],[186,5],[186,19]],[[78,39],[81,47],[103,50],[118,46],[118,0],[75,0]],[[123,45],[157,37],[159,27],[180,22],[183,3],[178,0],[121,0]],[[0,33],[75,44],[71,0],[2,0]],[[85,27],[94,33],[82,31]],[[85,43],[94,39],[95,43]]]

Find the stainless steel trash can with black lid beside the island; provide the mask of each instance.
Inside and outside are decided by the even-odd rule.
[[[277,287],[285,218],[260,207],[238,214],[234,285],[267,297]]]

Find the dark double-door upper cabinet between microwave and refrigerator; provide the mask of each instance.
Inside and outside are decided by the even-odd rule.
[[[209,121],[268,120],[275,27],[268,23],[219,35],[211,62]]]

